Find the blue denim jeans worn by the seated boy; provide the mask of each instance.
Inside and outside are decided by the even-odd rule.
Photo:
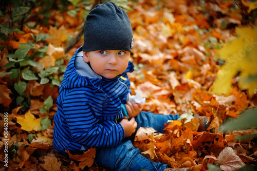
[[[158,132],[163,132],[164,123],[168,120],[177,120],[178,118],[178,115],[165,116],[141,111],[136,117],[137,129],[139,127],[153,127]],[[131,141],[121,142],[115,147],[99,147],[96,150],[95,162],[98,165],[117,171],[141,171],[141,169],[162,171],[168,166],[167,164],[153,162],[140,155],[139,149],[134,147]]]

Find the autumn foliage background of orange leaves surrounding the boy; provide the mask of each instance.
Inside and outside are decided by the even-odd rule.
[[[94,163],[94,148],[76,156],[58,155],[52,149],[58,87],[83,37],[77,36],[78,42],[69,45],[99,2],[3,2],[0,170],[104,170]],[[141,90],[146,98],[143,109],[163,115],[188,113],[185,119],[167,123],[164,134],[141,128],[134,145],[142,155],[193,170],[255,166],[257,3],[114,2],[127,10],[134,30],[131,61],[135,71],[129,77],[133,92]],[[221,129],[226,120],[243,112],[252,120],[237,120],[238,127]]]

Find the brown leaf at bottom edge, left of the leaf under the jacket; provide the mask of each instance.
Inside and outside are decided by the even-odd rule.
[[[55,156],[45,156],[44,157],[44,163],[40,164],[40,167],[42,167],[45,170],[52,170],[52,171],[59,171],[61,170],[60,167],[62,165],[61,161],[58,161]]]

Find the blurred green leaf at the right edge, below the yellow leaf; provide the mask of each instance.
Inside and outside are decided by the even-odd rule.
[[[247,129],[257,126],[257,109],[249,109],[241,113],[238,118],[225,122],[220,129],[224,132],[235,129]]]

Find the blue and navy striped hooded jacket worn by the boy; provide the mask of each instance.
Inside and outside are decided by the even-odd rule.
[[[90,147],[112,147],[125,138],[124,129],[117,121],[123,118],[121,104],[126,103],[131,90],[127,72],[134,70],[130,62],[120,78],[106,79],[82,76],[75,68],[80,47],[70,59],[59,87],[57,112],[54,115],[53,148],[65,153]],[[90,67],[89,67],[90,69]]]

